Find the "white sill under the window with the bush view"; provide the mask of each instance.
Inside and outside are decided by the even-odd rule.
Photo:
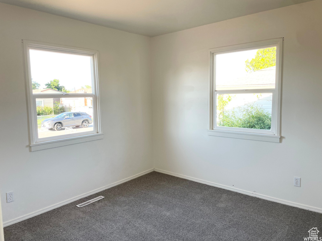
[[[208,136],[230,137],[247,140],[279,142],[280,136],[257,133],[243,133],[238,131],[208,130]]]

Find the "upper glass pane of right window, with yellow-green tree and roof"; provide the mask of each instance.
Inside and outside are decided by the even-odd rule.
[[[216,55],[216,90],[274,89],[276,47]]]

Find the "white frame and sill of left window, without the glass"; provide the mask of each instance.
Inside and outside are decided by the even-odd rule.
[[[30,40],[23,40],[24,45],[24,64],[27,86],[27,100],[28,100],[28,118],[30,129],[30,149],[31,151],[43,150],[53,147],[61,147],[91,140],[103,138],[103,133],[100,127],[100,109],[99,109],[99,52],[91,49],[81,49],[76,47],[62,46],[56,44],[42,43]],[[55,93],[55,94],[33,94],[30,55],[29,50],[44,50],[56,53],[76,54],[82,56],[92,57],[92,93],[86,94],[69,94],[69,93]],[[38,124],[36,111],[36,98],[73,98],[73,97],[91,97],[93,100],[93,131],[81,132],[79,134],[67,134],[57,137],[38,138]]]

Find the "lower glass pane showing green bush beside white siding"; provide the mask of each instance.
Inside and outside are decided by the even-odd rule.
[[[217,126],[271,129],[272,93],[217,94]]]

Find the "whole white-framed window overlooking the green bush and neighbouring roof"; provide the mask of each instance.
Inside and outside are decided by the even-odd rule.
[[[209,135],[279,142],[282,41],[210,49]]]

